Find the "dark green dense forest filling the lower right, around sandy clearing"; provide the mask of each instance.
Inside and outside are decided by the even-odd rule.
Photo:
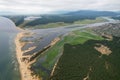
[[[109,47],[111,54],[101,54],[96,44]],[[63,55],[49,80],[119,80],[120,37],[88,40],[83,44],[65,44]]]

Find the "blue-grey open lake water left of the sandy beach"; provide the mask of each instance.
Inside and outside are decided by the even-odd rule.
[[[0,80],[20,80],[14,43],[16,34],[14,23],[0,17]]]

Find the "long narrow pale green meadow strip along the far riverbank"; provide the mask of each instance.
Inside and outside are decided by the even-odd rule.
[[[106,19],[102,17],[98,17],[96,19],[84,19],[84,20],[74,21],[73,23],[55,22],[55,23],[41,24],[41,25],[36,25],[33,28],[34,29],[56,28],[56,27],[63,27],[63,26],[65,27],[65,26],[70,26],[70,25],[75,25],[75,24],[84,25],[84,24],[92,24],[92,23],[99,23],[99,22],[106,22],[106,21],[107,21]]]

